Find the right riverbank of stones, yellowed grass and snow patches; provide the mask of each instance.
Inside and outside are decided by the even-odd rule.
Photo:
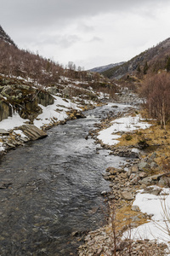
[[[119,119],[105,119],[91,132],[96,143],[110,149],[110,154],[132,159],[122,168],[111,166],[105,170],[103,177],[110,182],[111,191],[101,194],[110,207],[109,221],[105,227],[85,237],[79,256],[169,255],[168,197],[166,199],[170,194],[170,177],[166,171],[169,154],[163,146],[169,145],[170,134],[162,131],[153,120],[147,119],[147,126],[142,119],[144,127],[136,124],[138,114],[134,108],[128,109],[128,127],[125,117],[117,116]],[[122,130],[118,131],[117,124]],[[107,135],[111,135],[109,140]]]

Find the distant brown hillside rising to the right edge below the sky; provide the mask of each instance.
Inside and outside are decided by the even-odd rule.
[[[155,47],[136,55],[121,66],[112,67],[102,74],[110,79],[121,79],[127,75],[142,77],[146,73],[156,73],[159,69],[166,69],[170,56],[170,38],[167,38]]]

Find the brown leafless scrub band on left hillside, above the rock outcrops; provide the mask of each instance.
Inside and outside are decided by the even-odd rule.
[[[69,61],[66,67],[59,63],[43,58],[38,54],[25,49],[18,49],[14,44],[8,44],[0,39],[0,73],[8,77],[21,77],[43,86],[54,86],[58,83],[74,84],[75,91],[80,94],[79,88],[102,91],[114,96],[116,86],[111,84],[99,73],[89,73],[82,67]],[[77,89],[76,89],[77,88]]]

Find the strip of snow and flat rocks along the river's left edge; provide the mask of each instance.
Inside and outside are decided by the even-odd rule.
[[[44,107],[42,113],[30,124],[29,119],[22,119],[19,113],[0,122],[0,156],[8,150],[23,146],[31,140],[47,136],[47,130],[54,125],[65,125],[70,119],[83,118],[83,111],[96,108],[103,103],[88,101],[82,105],[78,99],[72,102],[69,99],[54,96],[54,104]]]

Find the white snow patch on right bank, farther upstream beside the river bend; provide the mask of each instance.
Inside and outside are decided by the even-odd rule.
[[[150,127],[150,124],[144,122],[139,115],[134,117],[122,117],[112,121],[111,124],[109,128],[99,131],[98,136],[99,140],[110,146],[119,143],[117,139],[120,138],[121,135],[116,134],[117,132],[129,132]]]

